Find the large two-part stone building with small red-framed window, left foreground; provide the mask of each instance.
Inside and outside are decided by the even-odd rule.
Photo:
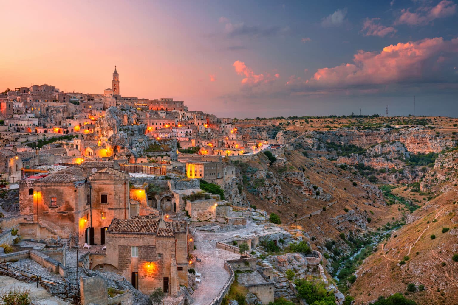
[[[70,167],[19,184],[24,238],[68,239],[70,245],[104,244],[111,219],[129,218],[129,175],[112,168],[87,175]]]

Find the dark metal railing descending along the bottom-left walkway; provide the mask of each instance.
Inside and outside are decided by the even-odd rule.
[[[37,288],[38,284],[40,284],[44,289],[46,289],[49,292],[49,294],[54,294],[65,300],[69,300],[75,302],[76,304],[80,304],[79,289],[70,283],[65,283],[65,280],[64,283],[55,282],[52,279],[45,278],[41,275],[10,266],[3,262],[0,262],[0,273],[6,273],[8,276],[11,276],[12,278],[16,278],[19,280],[34,281],[37,283]],[[30,276],[27,276],[27,274],[30,274]]]

